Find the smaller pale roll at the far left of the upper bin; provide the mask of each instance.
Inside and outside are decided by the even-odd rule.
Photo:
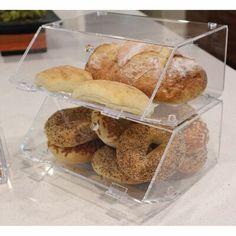
[[[80,68],[63,65],[49,68],[36,75],[35,84],[51,92],[71,93],[73,88],[86,80],[92,80],[92,75]]]

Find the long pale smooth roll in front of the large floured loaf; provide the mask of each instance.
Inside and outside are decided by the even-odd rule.
[[[74,89],[72,97],[137,115],[143,114],[149,101],[149,98],[137,88],[110,80],[85,81]],[[149,114],[153,110],[154,106],[151,106]]]

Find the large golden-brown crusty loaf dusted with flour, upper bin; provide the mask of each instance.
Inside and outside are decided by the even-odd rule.
[[[93,52],[85,69],[95,80],[114,80],[132,85],[150,97],[172,49],[137,42],[108,45],[101,45]],[[103,55],[107,51],[106,59],[100,56],[101,48]],[[105,66],[107,63],[108,66]],[[154,100],[171,104],[185,103],[199,96],[206,85],[204,69],[195,60],[176,53]]]

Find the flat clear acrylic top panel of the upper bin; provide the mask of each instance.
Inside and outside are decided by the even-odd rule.
[[[186,40],[202,36],[221,27],[217,24],[213,28],[207,23],[201,22],[158,19],[106,11],[81,14],[76,18],[64,19],[48,24],[48,26],[171,47],[176,47]]]

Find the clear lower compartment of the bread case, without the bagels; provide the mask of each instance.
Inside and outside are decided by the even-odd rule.
[[[168,127],[160,126],[161,130],[170,133],[170,139],[165,147],[165,151],[163,152],[157,168],[153,173],[153,177],[148,181],[145,181],[145,183],[140,184],[124,184],[115,182],[113,180],[108,180],[107,178],[98,175],[94,171],[91,163],[76,165],[66,164],[59,161],[58,158],[56,158],[48,150],[48,139],[44,130],[45,123],[53,113],[69,107],[72,107],[72,105],[66,103],[64,100],[47,97],[42,104],[35,120],[33,121],[32,127],[26,135],[24,142],[21,145],[21,151],[25,157],[35,162],[47,164],[49,166],[47,170],[42,170],[42,173],[38,175],[38,178],[45,175],[45,173],[49,171],[62,170],[63,172],[67,172],[70,175],[76,177],[78,176],[87,182],[95,184],[99,187],[99,189],[103,189],[103,191],[105,191],[107,195],[121,201],[128,201],[128,199],[133,199],[139,203],[159,202],[159,204],[167,204],[168,202],[171,202],[172,200],[178,198],[181,194],[183,194],[217,163],[217,159],[219,156],[222,114],[222,102],[218,100],[212,102],[211,107],[206,109],[206,111],[203,112],[201,116],[196,114],[195,117],[193,117],[189,121],[186,121],[175,130],[171,130]],[[207,139],[208,141],[205,146],[206,150],[204,151],[204,155],[206,155],[204,163],[199,168],[197,167],[197,171],[190,170],[191,168],[195,168],[198,165],[198,163],[194,159],[194,155],[200,155],[201,157],[203,155],[198,155],[198,153],[202,152],[202,149],[198,150],[196,148],[196,150],[193,150],[193,153],[195,154],[191,157],[192,162],[191,165],[189,164],[190,167],[187,171],[186,167],[184,167],[184,160],[186,159],[182,158],[181,163],[179,163],[176,169],[174,169],[174,172],[171,176],[168,176],[168,178],[165,179],[159,178],[161,170],[165,166],[165,162],[168,162],[168,157],[170,156],[170,153],[173,152],[173,150],[171,151],[171,145],[175,141],[175,138],[178,137],[178,134],[180,133],[186,135],[186,132],[188,132],[188,129],[189,127],[191,127],[193,122],[196,122],[199,119],[201,119],[201,121],[206,124],[208,133],[204,134],[204,132],[200,132],[199,134],[197,134],[197,136],[193,136],[192,147],[194,147],[197,138],[200,137],[201,139],[202,136],[207,136],[205,137],[205,139]],[[186,145],[188,145],[188,140],[185,142],[186,143],[184,144],[184,146],[186,148]],[[153,151],[154,149],[152,149],[151,151]],[[175,154],[179,155],[178,153]],[[185,153],[182,153],[182,155],[183,154],[185,156]]]

